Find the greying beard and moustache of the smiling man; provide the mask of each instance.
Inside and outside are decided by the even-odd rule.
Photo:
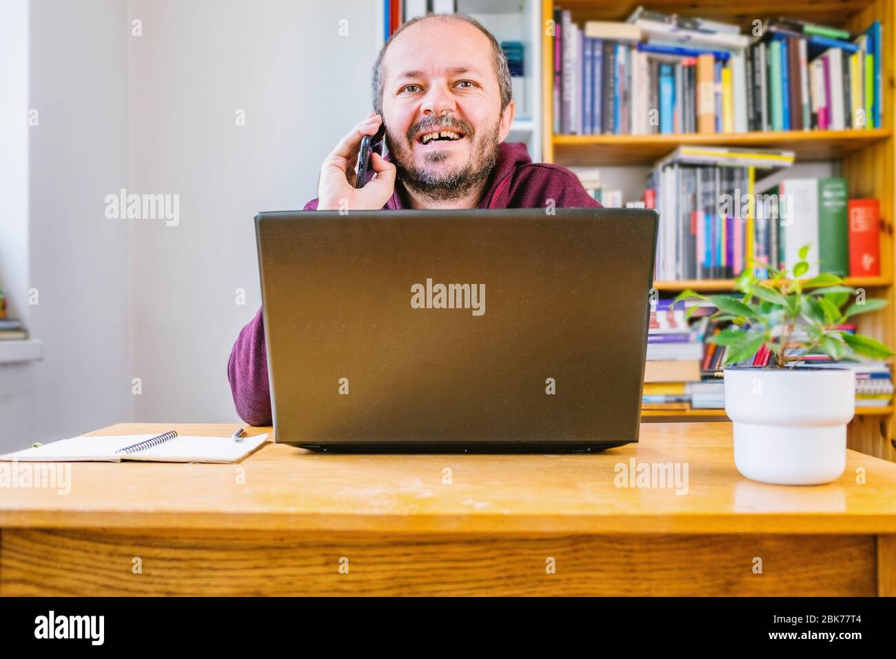
[[[411,126],[404,139],[392,139],[392,135],[386,131],[386,148],[392,154],[398,179],[404,186],[433,201],[453,201],[468,195],[470,190],[486,180],[492,169],[495,169],[501,150],[501,143],[498,141],[499,124],[500,119],[495,122],[495,126],[478,135],[466,121],[452,119],[448,123],[437,120],[421,122]],[[463,139],[470,140],[470,156],[466,163],[452,169],[437,167],[450,154],[436,146],[434,151],[426,153],[426,164],[423,167],[414,164],[411,147],[406,144],[412,143],[414,136],[421,130],[435,126],[444,130],[456,130],[463,134]]]

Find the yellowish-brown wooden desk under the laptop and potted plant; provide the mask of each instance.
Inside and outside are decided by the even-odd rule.
[[[0,595],[896,594],[896,464],[849,451],[830,485],[763,485],[730,433],[644,424],[603,455],[72,464],[67,496],[0,489]],[[616,487],[632,458],[687,464],[687,493]]]

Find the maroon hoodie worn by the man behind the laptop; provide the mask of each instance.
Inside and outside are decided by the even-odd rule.
[[[395,186],[383,210],[408,208],[399,188]],[[600,207],[569,169],[532,162],[523,143],[502,143],[486,194],[477,208],[546,208],[549,199],[554,200],[556,208]],[[316,209],[316,199],[305,204],[306,211]],[[228,377],[240,418],[252,426],[271,425],[271,389],[260,308],[234,343]]]

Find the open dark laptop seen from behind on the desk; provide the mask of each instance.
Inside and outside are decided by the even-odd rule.
[[[650,210],[255,216],[277,442],[589,452],[638,440]]]

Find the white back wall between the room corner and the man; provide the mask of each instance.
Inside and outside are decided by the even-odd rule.
[[[134,222],[134,421],[238,421],[227,361],[261,304],[254,214],[314,198],[324,156],[371,111],[377,5],[131,2],[128,190],[180,195],[177,227]]]

